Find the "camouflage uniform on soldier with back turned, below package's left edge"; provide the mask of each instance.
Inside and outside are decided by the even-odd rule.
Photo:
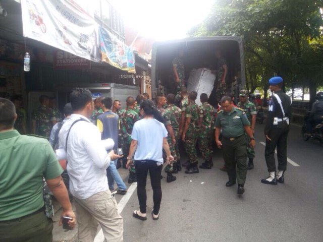
[[[199,134],[198,119],[200,110],[197,104],[192,101],[185,109],[185,117],[190,117],[191,122],[185,134],[185,151],[191,164],[197,164],[196,142]]]

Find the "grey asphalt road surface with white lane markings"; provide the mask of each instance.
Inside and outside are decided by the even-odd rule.
[[[219,170],[223,159],[217,150],[212,169],[192,175],[182,171],[171,184],[163,179],[157,221],[151,216],[146,221],[132,217],[139,208],[135,190],[122,211],[124,241],[323,241],[322,146],[302,141],[300,128],[291,126],[288,157],[299,166],[288,164],[285,184],[264,185],[260,183],[267,176],[264,146],[259,143],[264,142],[262,129],[262,125],[256,128],[255,168],[248,171],[243,196],[237,195],[237,187],[225,187],[227,174]],[[150,215],[150,186],[147,197]]]

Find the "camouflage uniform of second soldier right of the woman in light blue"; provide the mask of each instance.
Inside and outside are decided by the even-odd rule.
[[[182,111],[181,111],[181,109],[179,107],[175,106],[174,104],[171,104],[166,108],[166,112],[167,112],[167,116],[170,117],[171,125],[172,125],[173,132],[174,132],[175,139],[176,139],[176,144],[174,146],[172,144],[171,136],[168,135],[168,137],[167,137],[167,141],[170,144],[171,154],[174,157],[174,163],[175,163],[176,161],[181,159],[180,152],[179,152],[179,147],[178,147],[178,140],[180,138],[179,137],[179,135],[180,135],[179,123],[180,123]],[[165,168],[165,171],[173,171],[173,164],[168,165]]]

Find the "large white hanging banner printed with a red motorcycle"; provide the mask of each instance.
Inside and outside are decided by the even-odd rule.
[[[24,36],[99,62],[98,24],[91,1],[22,0]]]

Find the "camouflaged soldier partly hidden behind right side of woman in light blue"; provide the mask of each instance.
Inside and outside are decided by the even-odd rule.
[[[171,124],[171,113],[167,112],[164,109],[164,105],[167,103],[167,99],[164,95],[157,95],[155,98],[155,102],[156,102],[156,108],[159,111],[159,113],[161,114],[161,116],[164,117],[165,119],[165,127],[168,131],[168,143],[170,146],[170,151],[172,156],[175,155],[175,144],[176,144],[176,137],[172,128],[172,124]],[[174,162],[176,162],[175,157],[174,157],[174,161],[170,162],[167,167],[165,168],[165,172],[167,173],[167,182],[171,183],[172,181],[176,180],[176,177],[172,174],[174,172]]]

